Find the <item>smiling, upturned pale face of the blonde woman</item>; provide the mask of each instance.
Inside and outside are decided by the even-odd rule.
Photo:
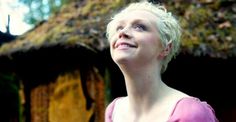
[[[156,26],[158,18],[145,10],[134,10],[114,20],[110,52],[117,64],[157,62],[162,44]]]

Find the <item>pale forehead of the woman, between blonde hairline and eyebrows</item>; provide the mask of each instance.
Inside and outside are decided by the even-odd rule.
[[[116,22],[126,23],[129,21],[146,21],[155,24],[157,16],[146,10],[133,10],[128,13],[121,13],[120,17],[117,18]]]

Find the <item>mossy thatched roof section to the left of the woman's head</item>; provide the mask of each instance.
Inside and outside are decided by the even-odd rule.
[[[116,2],[85,1],[64,6],[14,42],[0,47],[0,55],[38,50],[55,45],[79,46],[91,51],[108,46],[105,38],[106,15]],[[106,8],[104,8],[106,6]]]

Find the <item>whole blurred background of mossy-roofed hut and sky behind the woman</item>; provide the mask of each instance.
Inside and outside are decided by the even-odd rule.
[[[138,0],[0,0],[0,121],[103,122],[126,95],[105,37],[110,17]],[[163,81],[236,122],[235,0],[149,0],[183,28]]]

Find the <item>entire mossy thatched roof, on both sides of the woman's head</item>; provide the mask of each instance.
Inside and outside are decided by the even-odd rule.
[[[78,45],[101,51],[108,48],[105,28],[109,17],[125,3],[124,0],[85,0],[69,4],[16,41],[2,45],[0,56],[55,45]],[[183,27],[182,53],[236,56],[236,2],[177,0],[164,4],[177,15]]]

